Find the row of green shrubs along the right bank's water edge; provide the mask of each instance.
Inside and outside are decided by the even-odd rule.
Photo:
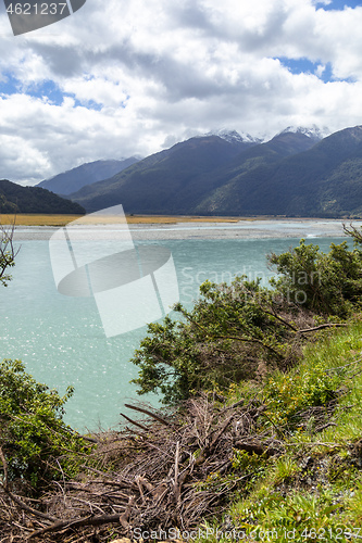
[[[202,298],[191,311],[174,307],[179,320],[149,325],[132,359],[140,368],[138,392],[161,392],[164,403],[176,403],[294,364],[301,338],[316,321],[338,324],[361,310],[362,233],[346,232],[357,243],[351,251],[345,241],[325,254],[301,240],[270,255],[279,274],[271,281],[274,290],[245,277],[230,286],[201,285]]]

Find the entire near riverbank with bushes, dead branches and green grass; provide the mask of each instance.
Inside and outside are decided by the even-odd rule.
[[[4,362],[4,541],[361,538],[362,237],[346,232],[353,250],[271,255],[271,290],[207,281],[191,311],[150,325],[137,383],[167,407],[134,405],[147,418],[97,443],[63,422],[66,396]]]

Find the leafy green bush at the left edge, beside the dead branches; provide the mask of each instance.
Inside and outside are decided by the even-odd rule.
[[[37,488],[41,481],[74,475],[86,449],[62,418],[72,394],[71,387],[60,396],[38,383],[20,361],[0,363],[0,445],[12,479]]]

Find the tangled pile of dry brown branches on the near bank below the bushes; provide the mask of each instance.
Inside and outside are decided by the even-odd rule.
[[[37,501],[11,489],[0,449],[0,542],[105,543],[110,530],[132,541],[135,530],[194,530],[203,519],[222,514],[232,492],[242,490],[250,477],[233,468],[236,451],[267,458],[284,453],[285,444],[279,429],[265,426],[265,406],[258,396],[229,407],[209,397],[192,399],[166,416],[127,404],[148,416],[126,417],[142,432],[124,428],[97,437],[84,473],[55,482]],[[296,414],[298,425],[312,422],[314,431],[321,431],[334,424],[336,405],[335,397],[327,406]],[[232,470],[233,477],[225,477]]]

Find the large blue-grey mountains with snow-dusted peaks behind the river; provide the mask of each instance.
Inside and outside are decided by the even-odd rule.
[[[87,212],[122,203],[133,214],[362,217],[362,126],[324,136],[317,127],[288,127],[264,142],[208,134],[67,198]]]

